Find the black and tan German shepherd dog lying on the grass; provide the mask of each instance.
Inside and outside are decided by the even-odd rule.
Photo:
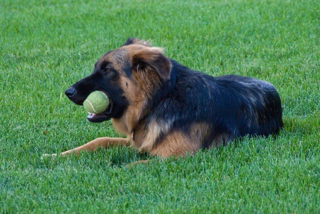
[[[97,138],[61,155],[130,145],[152,156],[184,156],[246,135],[267,137],[283,128],[280,96],[271,83],[193,71],[166,57],[162,48],[136,38],[104,54],[93,73],[65,94],[82,105],[96,90],[105,92],[110,104],[87,119],[111,119],[127,138]]]

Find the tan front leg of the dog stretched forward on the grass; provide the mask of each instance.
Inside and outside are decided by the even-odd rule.
[[[68,151],[62,152],[60,153],[60,156],[66,156],[66,155],[70,155],[70,154],[76,154],[78,155],[81,151],[85,150],[85,151],[95,151],[97,148],[99,147],[103,147],[106,148],[108,146],[116,146],[116,145],[120,145],[120,146],[129,146],[129,140],[126,138],[111,138],[111,137],[100,137],[97,138],[93,141],[90,141],[82,146],[79,146],[75,149],[70,149]],[[57,154],[44,154],[42,156],[46,157],[46,156],[51,156],[52,158],[54,158],[55,156],[57,156]],[[41,158],[41,159],[42,159]]]

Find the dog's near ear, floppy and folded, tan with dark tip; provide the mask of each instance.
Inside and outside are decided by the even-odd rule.
[[[135,70],[149,69],[168,80],[172,64],[170,59],[164,56],[162,48],[143,48],[133,54],[132,68]]]

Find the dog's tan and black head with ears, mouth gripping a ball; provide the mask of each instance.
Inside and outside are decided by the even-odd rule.
[[[76,82],[65,94],[82,105],[91,92],[103,91],[110,100],[107,110],[90,114],[88,120],[102,122],[120,118],[128,106],[139,99],[141,90],[152,91],[150,82],[161,84],[170,79],[171,68],[171,61],[161,48],[135,38],[128,39],[121,48],[104,54],[96,62],[93,73]]]

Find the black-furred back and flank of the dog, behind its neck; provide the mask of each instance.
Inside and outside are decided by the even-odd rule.
[[[167,96],[150,112],[150,118],[169,127],[165,134],[195,133],[202,148],[209,148],[245,135],[269,136],[283,127],[280,96],[269,82],[235,75],[212,77],[173,60],[172,76],[176,81]]]

